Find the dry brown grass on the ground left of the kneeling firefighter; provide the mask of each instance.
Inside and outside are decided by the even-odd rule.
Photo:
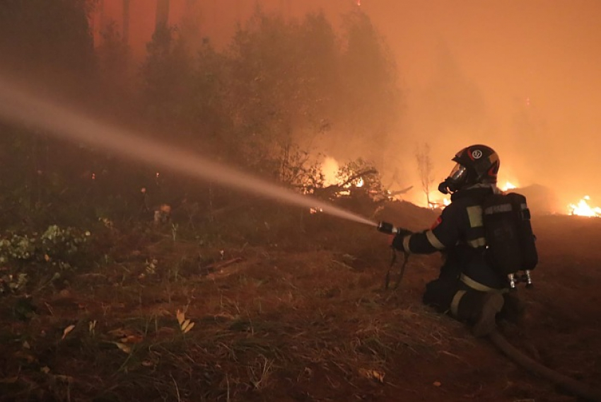
[[[412,258],[399,289],[385,290],[385,239],[346,227],[284,250],[168,233],[119,241],[109,263],[35,294],[27,322],[4,297],[0,401],[570,400],[520,382],[489,345],[420,304],[438,258]]]

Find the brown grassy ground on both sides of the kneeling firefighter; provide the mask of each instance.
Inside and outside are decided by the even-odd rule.
[[[383,216],[413,229],[433,220],[403,208]],[[527,316],[501,329],[600,387],[601,219],[533,226]],[[438,255],[412,256],[399,287],[383,289],[388,239],[367,226],[320,216],[228,241],[174,241],[169,228],[98,238],[103,258],[33,292],[33,316],[0,298],[0,401],[578,401],[421,305]]]

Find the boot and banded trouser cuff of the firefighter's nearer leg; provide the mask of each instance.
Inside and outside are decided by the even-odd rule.
[[[496,328],[496,315],[503,302],[503,295],[497,292],[468,291],[460,300],[457,318],[472,325],[475,337],[487,336]]]

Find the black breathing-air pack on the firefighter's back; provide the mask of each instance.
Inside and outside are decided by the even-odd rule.
[[[536,268],[538,253],[526,197],[518,193],[490,195],[482,212],[487,260],[498,274],[507,276],[511,289],[516,282],[532,287],[530,271]]]

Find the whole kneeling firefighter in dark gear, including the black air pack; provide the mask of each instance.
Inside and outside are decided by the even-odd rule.
[[[453,171],[438,186],[451,194],[450,205],[431,229],[397,229],[392,246],[406,253],[442,252],[445,262],[438,279],[426,285],[424,304],[468,323],[475,336],[486,336],[496,328],[498,314],[510,318],[522,312],[510,289],[521,277],[531,285],[535,236],[525,197],[503,194],[496,186],[500,161],[493,149],[473,145],[453,161]]]

